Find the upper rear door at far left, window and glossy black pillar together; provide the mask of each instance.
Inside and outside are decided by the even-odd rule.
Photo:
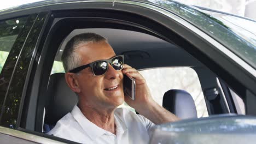
[[[1,117],[4,127],[19,128],[27,82],[47,13],[32,14],[1,21]],[[4,61],[5,60],[5,61]]]

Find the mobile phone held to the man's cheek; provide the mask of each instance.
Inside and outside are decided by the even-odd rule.
[[[135,80],[132,77],[124,75],[124,94],[132,100],[135,100],[135,87]]]

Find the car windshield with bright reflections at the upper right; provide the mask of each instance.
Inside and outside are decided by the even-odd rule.
[[[256,69],[256,22],[235,16],[217,16],[205,13],[205,11],[199,11],[174,1],[148,1],[160,5],[190,22]]]

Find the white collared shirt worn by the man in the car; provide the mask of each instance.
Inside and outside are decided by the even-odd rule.
[[[48,134],[79,143],[149,142],[149,133],[155,124],[147,118],[129,109],[118,108],[114,112],[114,119],[117,135],[90,122],[75,105],[72,112],[62,117]]]

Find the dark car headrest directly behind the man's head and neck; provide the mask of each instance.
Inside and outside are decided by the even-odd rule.
[[[45,105],[44,123],[55,125],[59,119],[71,112],[78,103],[75,94],[67,85],[64,73],[56,73],[50,76]]]

